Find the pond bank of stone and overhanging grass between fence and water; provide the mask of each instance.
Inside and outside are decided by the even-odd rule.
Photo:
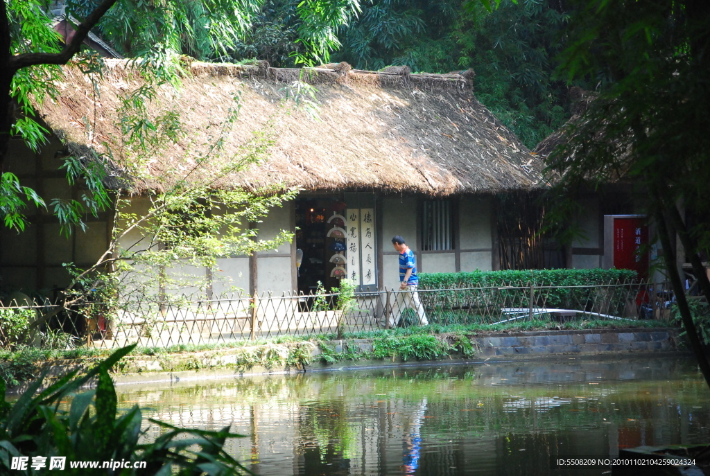
[[[616,355],[678,351],[677,328],[602,328],[498,333],[440,333],[339,341],[266,343],[200,352],[127,355],[116,384],[205,380],[275,372],[348,369],[422,362],[530,360],[558,355]],[[98,358],[48,362],[48,377],[82,370]],[[13,387],[21,392],[27,384]]]

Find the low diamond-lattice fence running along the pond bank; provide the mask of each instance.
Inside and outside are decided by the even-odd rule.
[[[378,290],[356,293],[346,312],[337,309],[337,294],[163,296],[70,309],[34,301],[0,307],[0,347],[115,348],[132,343],[170,347],[278,336],[327,337],[422,323],[485,325],[543,317],[667,320],[671,296],[667,284],[616,282],[567,287],[518,283],[420,289],[416,294]]]

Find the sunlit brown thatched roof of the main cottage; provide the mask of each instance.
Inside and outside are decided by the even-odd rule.
[[[148,115],[177,111],[187,134],[145,163],[146,175],[133,182],[133,190],[160,188],[166,174],[189,170],[217,137],[215,129],[234,107],[237,94],[241,109],[221,160],[239,153],[239,146],[265,127],[273,144],[265,163],[250,165],[219,186],[257,189],[284,184],[306,190],[447,195],[544,185],[542,161],[476,101],[472,74],[366,72],[351,70],[346,63],[328,66],[332,67],[301,71],[263,63],[186,65],[189,74],[182,87],[158,88]],[[289,85],[300,76],[317,89],[320,121],[284,100]],[[120,127],[121,98],[140,87],[143,77],[126,61],[107,60],[103,77],[93,80],[98,95],[92,78],[76,67],[65,67],[60,95],[45,101],[39,113],[70,150],[86,152],[88,147],[107,153],[110,148],[120,168],[131,157]],[[168,182],[178,175],[172,177]]]

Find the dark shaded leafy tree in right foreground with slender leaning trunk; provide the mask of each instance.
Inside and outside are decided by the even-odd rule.
[[[574,3],[579,13],[569,26],[562,67],[572,79],[599,82],[600,95],[550,157],[550,169],[561,175],[557,192],[569,198],[590,182],[630,179],[645,196],[679,313],[710,384],[710,362],[692,321],[675,246],[682,243],[710,299],[701,262],[710,249],[710,3]],[[553,203],[564,216],[570,201]]]

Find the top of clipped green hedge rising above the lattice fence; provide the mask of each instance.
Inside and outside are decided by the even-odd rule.
[[[504,270],[474,272],[422,272],[420,289],[453,289],[491,286],[594,286],[631,282],[638,275],[632,270]]]

